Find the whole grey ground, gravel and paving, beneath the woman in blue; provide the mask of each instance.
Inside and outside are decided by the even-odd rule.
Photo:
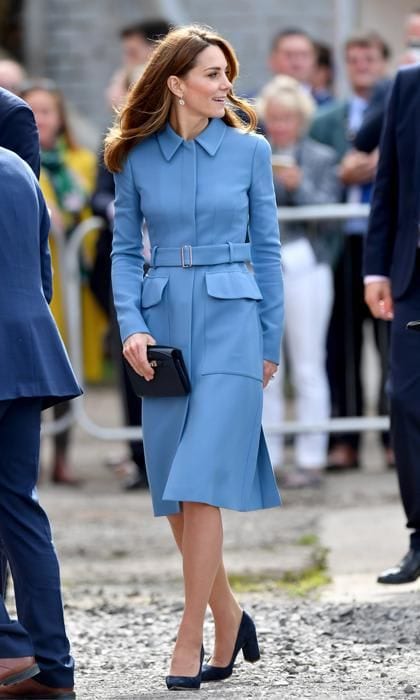
[[[92,405],[93,413],[110,414],[106,394]],[[148,495],[122,494],[104,468],[114,450],[76,432],[73,459],[84,487],[41,488],[62,562],[77,696],[167,698],[164,678],[182,610],[180,560],[165,520],[151,516]],[[420,586],[374,583],[379,567],[393,564],[406,545],[395,475],[378,455],[368,442],[360,473],[284,494],[282,509],[224,514],[228,569],[242,584],[238,596],[256,621],[262,658],[254,666],[239,660],[231,679],[203,685],[200,698],[420,700]],[[325,544],[330,586],[294,597],[272,584],[303,575]],[[208,620],[209,654],[211,645]]]

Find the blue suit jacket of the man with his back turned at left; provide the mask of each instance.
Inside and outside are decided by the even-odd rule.
[[[4,148],[0,182],[0,401],[47,407],[81,394],[48,306],[50,219],[32,170]]]

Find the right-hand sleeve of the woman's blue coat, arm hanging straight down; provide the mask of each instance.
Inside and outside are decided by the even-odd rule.
[[[263,357],[278,364],[283,331],[283,278],[271,148],[263,137],[258,139],[254,152],[249,190],[249,238],[255,277],[263,296],[259,303]]]

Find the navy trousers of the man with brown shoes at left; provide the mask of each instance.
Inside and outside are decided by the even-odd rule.
[[[0,401],[0,539],[12,571],[18,621],[0,597],[0,658],[35,655],[37,680],[73,686],[57,555],[36,483],[41,399]]]

